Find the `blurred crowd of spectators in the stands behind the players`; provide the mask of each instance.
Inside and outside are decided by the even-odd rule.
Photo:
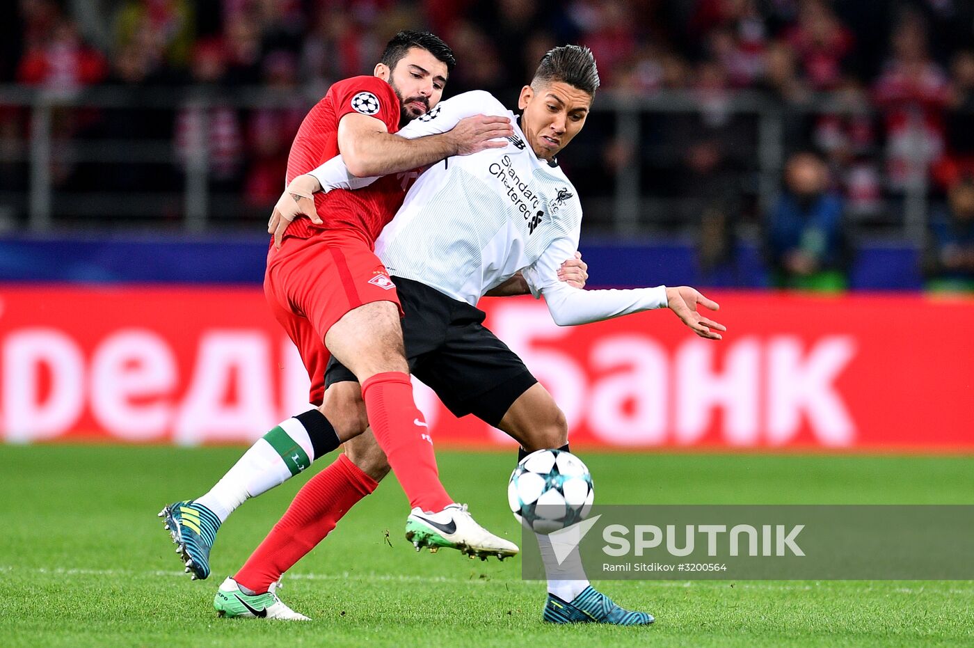
[[[638,165],[643,218],[700,236],[705,267],[732,261],[757,226],[782,285],[841,288],[849,224],[902,219],[913,187],[929,218],[931,278],[974,282],[974,2],[969,0],[19,0],[0,9],[0,82],[70,95],[92,86],[178,89],[169,109],[58,111],[53,136],[168,143],[177,164],[53,165],[58,190],[178,192],[206,149],[213,214],[262,219],[310,103],[369,73],[402,28],[429,28],[457,54],[447,95],[512,101],[541,55],[589,46],[602,92],[693,99],[651,113],[639,141],[597,114],[565,165],[592,227],[612,228],[615,175]],[[212,96],[260,87],[283,107]],[[210,100],[194,95],[206,90]],[[761,111],[777,111],[779,196],[759,196]],[[29,118],[0,108],[0,153],[23,147]],[[26,186],[16,156],[0,191]],[[221,197],[233,197],[228,201]],[[162,204],[162,203],[161,203]],[[229,207],[228,207],[229,206]],[[942,207],[940,207],[942,206]],[[175,200],[175,219],[182,204]],[[222,209],[222,210],[221,210]],[[124,214],[123,214],[124,215]],[[252,220],[251,220],[252,222]],[[945,251],[947,250],[947,251]],[[959,251],[958,251],[959,250]],[[825,287],[823,287],[825,286]]]

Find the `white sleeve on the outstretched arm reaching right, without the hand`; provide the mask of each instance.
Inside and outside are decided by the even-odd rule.
[[[555,324],[588,324],[666,306],[666,286],[583,290],[560,281],[558,268],[574,257],[578,247],[579,231],[575,230],[551,242],[541,257],[522,271],[535,298],[544,297]]]

